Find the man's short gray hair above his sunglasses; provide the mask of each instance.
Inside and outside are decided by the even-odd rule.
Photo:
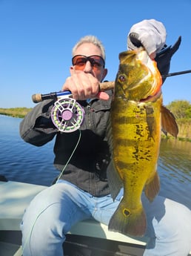
[[[96,36],[84,36],[82,37],[77,43],[76,45],[74,45],[73,47],[73,51],[72,54],[74,56],[76,49],[80,46],[83,45],[84,43],[91,43],[93,45],[96,45],[97,47],[100,48],[101,50],[101,57],[105,60],[105,49],[104,49],[104,45],[102,44],[102,42],[96,37]]]

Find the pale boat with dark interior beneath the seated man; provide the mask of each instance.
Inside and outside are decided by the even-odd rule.
[[[20,223],[24,209],[46,186],[0,181],[0,255],[21,256]],[[67,234],[64,256],[142,256],[146,238],[109,232],[96,220],[77,223]],[[36,255],[38,256],[38,255]],[[191,256],[191,252],[190,252]]]

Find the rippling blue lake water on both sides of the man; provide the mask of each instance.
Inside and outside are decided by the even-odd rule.
[[[53,166],[53,141],[42,147],[19,136],[20,118],[0,115],[0,174],[7,180],[50,186],[58,171]],[[158,160],[160,194],[191,209],[191,142],[161,140]]]

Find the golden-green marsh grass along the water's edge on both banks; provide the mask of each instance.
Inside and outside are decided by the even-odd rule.
[[[24,118],[28,112],[33,108],[0,108],[0,114],[18,118]],[[191,118],[177,118],[178,124],[178,138],[177,140],[191,142]],[[167,136],[161,133],[162,138],[172,139],[173,137],[168,134]]]

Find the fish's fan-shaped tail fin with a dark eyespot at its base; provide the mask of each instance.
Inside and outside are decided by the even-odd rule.
[[[121,234],[143,236],[146,231],[147,220],[142,205],[138,209],[131,210],[124,207],[122,201],[111,217],[108,229]]]

